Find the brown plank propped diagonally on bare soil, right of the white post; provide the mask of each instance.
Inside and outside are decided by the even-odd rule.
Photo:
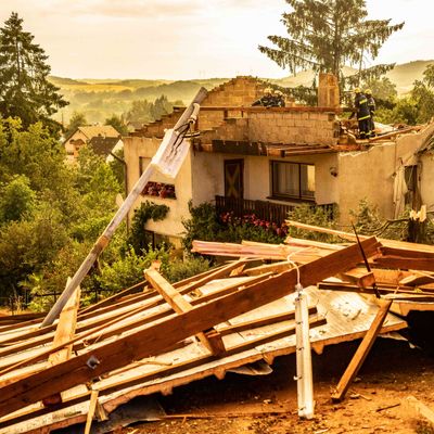
[[[387,316],[388,309],[391,308],[392,301],[379,301],[380,308],[375,315],[375,318],[372,321],[370,329],[368,330],[367,334],[365,335],[363,340],[361,341],[359,347],[357,348],[355,355],[353,356],[352,361],[349,362],[348,367],[346,368],[344,374],[342,375],[336,390],[332,394],[332,399],[334,401],[341,401],[344,397],[346,392],[348,391],[349,384],[357,375],[361,365],[363,363],[365,359],[367,358],[369,350],[371,349],[375,337],[378,336],[383,322]]]

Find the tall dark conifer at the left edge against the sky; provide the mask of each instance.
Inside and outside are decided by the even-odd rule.
[[[59,129],[50,116],[67,102],[48,81],[48,56],[33,40],[34,36],[23,30],[23,20],[12,12],[0,28],[0,113],[20,117],[25,128],[41,120]]]

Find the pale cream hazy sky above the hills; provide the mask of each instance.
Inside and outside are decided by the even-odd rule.
[[[367,0],[370,18],[406,22],[374,63],[434,59],[432,0]],[[72,78],[207,78],[289,75],[265,54],[284,35],[284,0],[0,0]]]

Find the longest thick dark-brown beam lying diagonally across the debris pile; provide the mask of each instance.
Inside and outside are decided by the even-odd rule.
[[[375,238],[361,242],[367,256],[378,250]],[[270,277],[238,292],[156,324],[141,328],[118,340],[92,347],[60,365],[0,388],[0,417],[76,385],[86,383],[133,360],[151,357],[175,343],[215,324],[237,317],[294,292],[299,276],[303,286],[315,284],[354,267],[362,260],[358,245],[352,245],[329,256]]]

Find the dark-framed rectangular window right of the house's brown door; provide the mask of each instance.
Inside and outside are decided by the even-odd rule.
[[[271,162],[271,174],[272,196],[315,200],[315,166],[312,164]]]

